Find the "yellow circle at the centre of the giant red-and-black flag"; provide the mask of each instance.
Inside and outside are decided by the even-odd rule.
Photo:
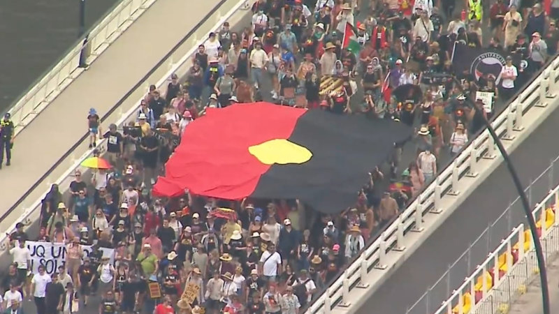
[[[251,146],[249,153],[265,165],[306,163],[312,157],[312,153],[306,147],[285,139],[269,140]]]

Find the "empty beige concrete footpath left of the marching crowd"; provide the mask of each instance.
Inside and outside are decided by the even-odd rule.
[[[108,113],[218,3],[219,0],[156,1],[17,135],[12,165],[0,170],[0,208],[6,211],[12,207],[80,140],[87,131],[90,107],[96,108],[100,117]],[[161,76],[168,70],[162,66]],[[128,101],[136,102],[146,90],[147,86],[137,95],[132,94]],[[132,103],[122,104],[126,110],[131,106]],[[108,121],[117,121],[122,111],[117,110],[115,114]],[[82,143],[75,149],[75,155],[66,158],[17,210],[0,221],[0,230],[7,230],[25,208],[41,197],[50,182],[60,177],[85,151],[87,143]]]

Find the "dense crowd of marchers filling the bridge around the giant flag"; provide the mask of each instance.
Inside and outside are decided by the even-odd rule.
[[[466,100],[475,100],[476,91],[492,91],[495,102],[507,100],[518,89],[521,70],[512,57],[522,54],[535,70],[558,47],[554,20],[533,1],[517,9],[514,0],[491,6],[469,0],[462,13],[453,12],[456,3],[449,0],[361,2],[258,0],[249,26],[235,32],[225,23],[198,47],[184,82],[173,75],[166,91],[150,87],[124,130],[112,124],[101,133],[99,116],[90,110],[90,147],[100,155],[105,148],[96,141],[108,139],[103,157],[112,169],[94,170],[91,181],[76,171],[69,195],[53,185],[43,200],[37,239],[18,225],[10,237],[14,264],[2,281],[1,306],[18,308],[25,297],[34,297],[37,313],[74,313],[74,299],[87,306],[99,295],[99,313],[107,314],[299,313],[375,230],[433,180],[441,156],[458,154],[481,128],[480,119],[491,116],[483,103]],[[553,18],[559,17],[555,3]],[[357,49],[344,47],[347,23]],[[501,84],[494,75],[476,80],[472,73],[453,73],[454,42],[490,42],[506,51],[511,57]],[[405,85],[409,92],[395,95]],[[180,135],[206,107],[262,99],[364,114],[371,123],[409,124],[416,127],[414,158],[400,165],[402,145],[396,144],[390,173],[371,170],[356,203],[335,216],[298,200],[152,195]],[[388,191],[379,190],[382,183]],[[28,277],[26,240],[64,243],[66,263],[52,276],[40,267]],[[92,244],[81,262],[82,246]],[[115,248],[114,264],[101,248]],[[159,283],[157,301],[149,283]],[[185,297],[183,290],[192,284],[199,289]]]

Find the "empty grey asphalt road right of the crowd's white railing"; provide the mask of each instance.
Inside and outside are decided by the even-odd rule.
[[[557,100],[556,100],[557,101]],[[559,155],[556,145],[556,121],[559,121],[559,110],[547,117],[527,140],[511,155],[523,186],[528,186],[549,166],[550,160]],[[557,171],[556,171],[557,172]],[[559,182],[555,175],[554,184]],[[532,205],[542,200],[549,192],[549,180],[531,188]],[[449,264],[462,255],[474,242],[489,223],[493,223],[500,214],[514,201],[518,194],[504,164],[500,165],[484,183],[437,229],[427,241],[377,290],[368,301],[357,311],[358,314],[403,314],[424,292],[437,281],[447,270]],[[525,222],[521,207],[513,207],[511,225]],[[491,251],[498,246],[500,240],[509,234],[509,224],[498,223],[493,226]],[[488,251],[474,250],[471,255],[471,266],[483,262]],[[471,267],[470,266],[470,267]],[[451,271],[451,291],[456,289],[465,277],[470,274],[467,263],[456,264]],[[444,285],[443,285],[444,286]],[[430,293],[428,313],[433,313],[441,302],[449,297],[446,287]],[[416,306],[410,314],[425,314],[426,306]]]

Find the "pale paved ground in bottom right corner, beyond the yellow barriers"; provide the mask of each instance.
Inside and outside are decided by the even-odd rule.
[[[547,268],[550,313],[559,313],[559,259],[556,257]],[[511,306],[509,314],[542,314],[542,285],[539,277],[528,285],[528,291]]]

